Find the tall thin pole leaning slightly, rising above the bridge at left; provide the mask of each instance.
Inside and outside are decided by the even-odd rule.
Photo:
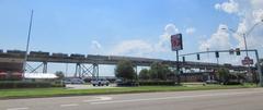
[[[24,57],[24,62],[23,62],[23,76],[25,73],[25,66],[26,66],[26,61],[27,61],[27,53],[28,53],[28,48],[30,48],[30,37],[31,37],[31,27],[32,27],[32,21],[33,21],[33,13],[34,11],[31,11],[31,20],[30,20],[30,28],[27,33],[27,40],[26,40],[26,48],[25,48],[25,57]]]

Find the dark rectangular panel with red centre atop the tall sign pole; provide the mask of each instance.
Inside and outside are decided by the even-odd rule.
[[[171,46],[172,46],[172,51],[183,49],[182,34],[176,34],[171,36]]]

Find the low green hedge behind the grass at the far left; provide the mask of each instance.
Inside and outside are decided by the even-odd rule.
[[[3,88],[44,88],[44,87],[62,87],[64,85],[54,85],[47,82],[22,82],[4,81],[0,82],[0,89]]]

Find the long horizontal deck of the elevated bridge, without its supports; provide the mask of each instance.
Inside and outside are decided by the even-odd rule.
[[[23,53],[0,53],[0,62],[3,59],[9,59],[9,61],[24,59]],[[161,59],[148,59],[148,58],[136,58],[136,57],[121,57],[121,56],[93,56],[88,54],[87,57],[68,57],[68,56],[42,56],[42,54],[28,54],[27,61],[32,62],[53,62],[53,63],[95,63],[95,64],[117,64],[122,60],[130,60],[134,64],[138,66],[150,66],[153,62],[161,62],[163,64],[168,64],[170,66],[175,66],[178,64],[176,61],[171,60],[161,60]],[[205,63],[205,62],[179,62],[181,68],[192,68],[192,69],[217,69],[217,68],[228,68],[230,70],[243,71],[247,70],[247,66],[241,65],[224,65],[216,63]]]

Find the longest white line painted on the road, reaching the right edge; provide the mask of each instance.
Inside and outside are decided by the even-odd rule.
[[[206,94],[206,95],[191,95],[191,96],[161,97],[161,98],[145,98],[145,99],[130,99],[130,100],[113,100],[113,101],[90,102],[90,105],[122,103],[122,102],[136,102],[136,101],[155,101],[155,100],[197,98],[197,97],[215,97],[215,96],[230,96],[230,95],[245,95],[245,94],[256,94],[256,93],[262,93],[262,91],[224,93],[224,94]]]

